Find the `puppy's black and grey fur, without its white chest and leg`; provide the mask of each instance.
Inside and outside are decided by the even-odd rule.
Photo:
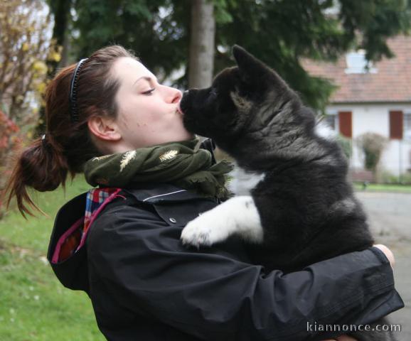
[[[348,162],[316,117],[276,72],[235,46],[237,67],[181,100],[189,131],[212,138],[245,171],[264,173],[251,190],[264,229],[250,255],[267,269],[295,271],[373,245],[366,216],[347,182]],[[384,321],[378,321],[384,323]],[[358,340],[394,340],[356,332]]]

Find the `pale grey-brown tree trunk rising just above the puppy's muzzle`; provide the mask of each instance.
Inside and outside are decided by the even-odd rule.
[[[213,80],[215,19],[211,0],[191,1],[188,87],[209,87]]]

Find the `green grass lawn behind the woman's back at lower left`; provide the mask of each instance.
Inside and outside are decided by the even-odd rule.
[[[46,252],[55,212],[90,188],[82,178],[63,190],[36,193],[33,200],[50,217],[8,212],[0,220],[0,340],[103,341],[85,293],[64,288]]]

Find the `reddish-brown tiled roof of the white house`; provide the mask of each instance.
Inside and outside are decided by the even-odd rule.
[[[336,63],[304,60],[310,75],[324,77],[338,85],[331,103],[411,102],[411,37],[388,39],[395,57],[373,63],[376,73],[346,73],[346,56]]]

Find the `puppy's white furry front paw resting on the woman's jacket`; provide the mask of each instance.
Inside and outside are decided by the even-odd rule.
[[[212,215],[207,213],[188,222],[181,232],[181,242],[197,248],[210,247],[215,243],[223,242],[227,237],[228,234],[218,226],[218,222],[213,219]]]

